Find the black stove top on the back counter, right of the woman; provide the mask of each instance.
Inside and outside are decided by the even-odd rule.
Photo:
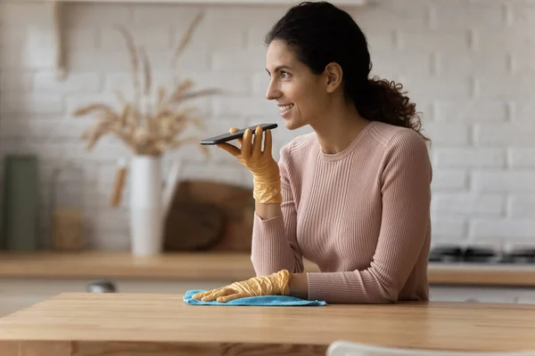
[[[507,251],[493,247],[432,247],[429,262],[535,264],[535,247],[516,247]]]

